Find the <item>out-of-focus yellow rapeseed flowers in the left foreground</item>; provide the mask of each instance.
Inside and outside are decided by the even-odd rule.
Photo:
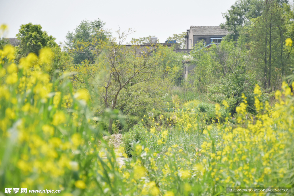
[[[111,149],[105,150],[109,159],[97,160],[103,145],[97,145],[100,135],[88,120],[88,91],[73,93],[67,77],[51,81],[46,73],[52,58],[48,48],[39,56],[29,53],[18,65],[14,58],[14,47],[0,50],[0,152],[6,152],[1,156],[0,177],[7,179],[2,185],[62,190],[64,195],[76,189],[93,195],[100,191],[97,183],[107,190],[122,175],[112,165]],[[106,167],[113,170],[102,172]],[[97,181],[106,175],[112,175],[111,182]]]

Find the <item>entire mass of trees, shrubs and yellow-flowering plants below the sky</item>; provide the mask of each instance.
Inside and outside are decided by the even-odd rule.
[[[294,8],[237,0],[224,16],[228,35],[189,53],[174,52],[188,31],[124,44],[133,30],[100,19],[62,47],[32,23],[18,46],[0,38],[0,195],[293,191]]]

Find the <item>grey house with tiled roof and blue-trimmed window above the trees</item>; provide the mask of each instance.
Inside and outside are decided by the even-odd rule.
[[[228,33],[228,30],[221,29],[220,26],[191,26],[185,36],[186,49],[193,49],[198,41],[203,41],[205,46],[210,46],[212,43],[218,44]]]

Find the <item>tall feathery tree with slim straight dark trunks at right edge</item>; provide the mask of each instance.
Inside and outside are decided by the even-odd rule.
[[[287,7],[285,6],[285,9],[288,9]],[[273,84],[272,81],[279,81],[281,75],[285,76],[286,71],[290,71],[288,67],[292,47],[284,46],[285,39],[293,36],[293,29],[288,29],[293,25],[290,18],[289,11],[280,7],[278,1],[266,0],[263,14],[252,19],[249,28],[250,46],[264,88],[277,88],[280,84]]]

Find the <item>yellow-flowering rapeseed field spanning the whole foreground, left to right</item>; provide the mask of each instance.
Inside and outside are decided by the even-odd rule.
[[[98,118],[89,91],[75,91],[71,73],[49,77],[51,56],[44,48],[15,64],[14,47],[0,51],[1,191],[25,187],[61,190],[66,196],[173,196],[294,186],[294,83],[290,88],[284,82],[272,105],[259,99],[256,85],[257,115],[247,112],[243,95],[236,122],[226,101],[215,105],[211,120],[177,103],[169,117],[155,120],[146,114],[136,126],[141,139],[121,164],[116,160],[128,157],[125,146],[114,149],[103,139],[103,130],[94,126]]]

